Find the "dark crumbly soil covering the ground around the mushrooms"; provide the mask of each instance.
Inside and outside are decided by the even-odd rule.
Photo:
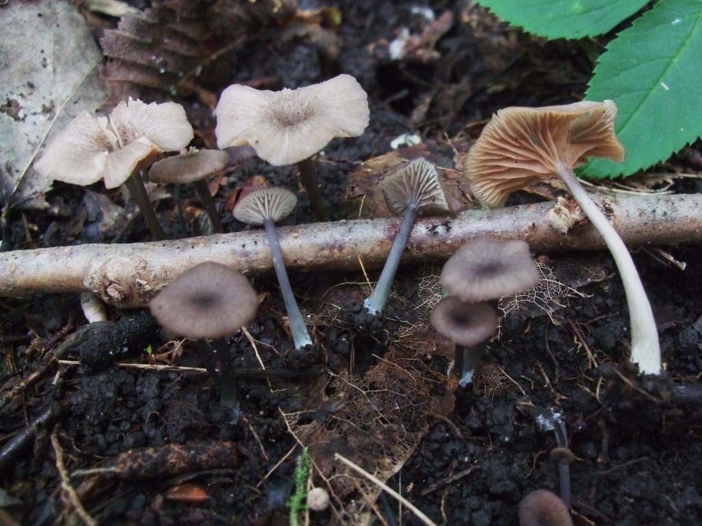
[[[465,145],[480,121],[510,104],[571,102],[592,70],[583,43],[524,36],[462,1],[428,4],[437,17],[453,15],[434,54],[424,45],[425,55],[393,61],[388,43],[400,30],[420,34],[430,23],[410,4],[324,5],[343,17],[337,58],[319,41],[281,41],[284,28],[267,29],[223,57],[201,86],[218,95],[234,82],[295,88],[338,72],[356,76],[369,93],[371,125],[358,139],[333,142],[318,162],[335,219],[345,217],[348,175],[388,153],[398,135],[420,133],[450,163],[446,137]],[[206,144],[210,108],[192,94],[176,101]],[[298,191],[293,168],[243,161],[216,196],[228,231],[244,228],[228,204],[255,175]],[[172,201],[160,203],[168,231],[206,231],[197,197],[184,188],[181,198],[185,222]],[[510,204],[535,198],[522,194]],[[4,247],[149,238],[143,220],[127,221],[121,197],[100,185],[56,184],[48,201],[51,212],[11,213]],[[105,220],[108,209],[117,210],[114,222]],[[304,196],[294,216],[287,223],[314,220]],[[213,379],[188,368],[202,367],[195,343],[169,338],[146,311],[112,311],[112,321],[93,326],[77,297],[1,299],[0,512],[8,517],[0,522],[14,524],[11,515],[25,525],[88,524],[90,515],[99,524],[284,525],[300,441],[310,446],[314,485],[332,493],[331,508],[310,513],[312,524],[420,524],[345,471],[339,453],[388,480],[437,524],[516,525],[527,493],[559,492],[559,466],[549,456],[555,433],[536,423],[553,411],[576,457],[569,466],[576,524],[699,525],[702,260],[696,246],[665,250],[687,268],[653,250],[635,253],[661,337],[659,379],[637,377],[627,365],[628,312],[607,254],[538,255],[559,287],[542,292],[541,308],[525,299],[510,311],[475,386],[455,391],[446,382],[452,348],[426,323],[438,261],[401,267],[381,319],[353,309],[369,292],[360,274],[291,276],[316,342],[303,351],[293,349],[274,276],[256,276],[263,303],[248,332],[258,356],[246,335],[227,339],[234,407],[220,405]]]

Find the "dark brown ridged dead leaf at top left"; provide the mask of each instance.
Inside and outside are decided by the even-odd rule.
[[[125,13],[117,29],[100,38],[108,58],[102,76],[112,100],[143,87],[173,91],[227,47],[246,38],[251,27],[269,25],[296,11],[294,0],[154,1]]]

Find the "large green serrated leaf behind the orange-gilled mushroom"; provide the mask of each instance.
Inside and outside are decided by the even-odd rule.
[[[661,0],[609,43],[588,100],[611,99],[626,161],[592,160],[588,177],[630,175],[702,135],[702,0]]]

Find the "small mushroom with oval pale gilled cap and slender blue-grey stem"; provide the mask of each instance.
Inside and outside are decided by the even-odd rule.
[[[295,295],[290,286],[288,273],[285,270],[283,252],[280,250],[278,235],[275,231],[275,222],[290,215],[298,202],[298,198],[291,191],[284,188],[263,188],[252,191],[234,207],[234,217],[246,224],[263,224],[268,239],[273,267],[278,277],[280,292],[283,295],[285,310],[290,321],[290,332],[293,336],[295,349],[302,349],[312,344],[310,333],[303,321],[303,316],[298,309]]]

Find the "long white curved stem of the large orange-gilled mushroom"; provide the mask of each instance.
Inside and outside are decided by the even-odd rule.
[[[573,170],[564,163],[557,166],[557,174],[568,191],[580,205],[581,210],[595,226],[609,248],[619,270],[629,307],[631,324],[631,361],[639,366],[642,375],[661,374],[661,347],[651,304],[641,283],[633,259],[617,231],[604,216],[602,210],[583,189]]]

